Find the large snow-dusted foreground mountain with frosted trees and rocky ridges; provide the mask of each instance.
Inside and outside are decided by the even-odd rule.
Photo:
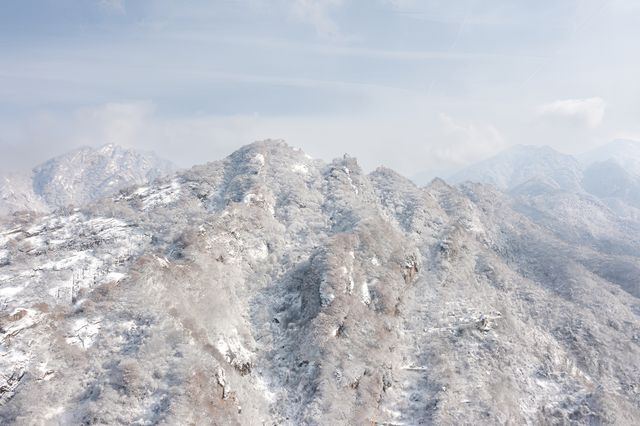
[[[0,419],[633,424],[638,227],[255,143],[3,226]]]

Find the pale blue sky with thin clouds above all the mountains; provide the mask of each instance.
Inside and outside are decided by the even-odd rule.
[[[414,176],[639,138],[630,0],[0,5],[0,168],[80,145],[182,166],[257,139]]]

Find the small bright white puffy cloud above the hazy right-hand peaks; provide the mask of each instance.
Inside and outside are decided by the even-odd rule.
[[[602,123],[606,102],[602,98],[564,99],[551,102],[540,107],[540,114],[545,117],[560,118],[573,123],[596,128]]]

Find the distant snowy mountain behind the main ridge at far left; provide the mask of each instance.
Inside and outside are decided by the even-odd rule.
[[[80,148],[31,172],[0,177],[0,215],[80,206],[131,185],[170,174],[175,167],[153,153],[109,144]]]

